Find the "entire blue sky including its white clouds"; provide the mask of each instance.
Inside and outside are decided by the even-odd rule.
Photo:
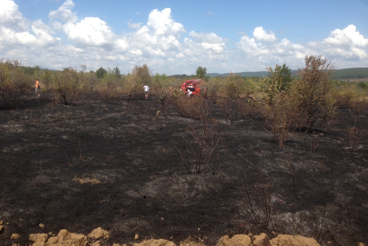
[[[265,71],[322,54],[368,67],[368,1],[0,0],[0,58],[61,69]]]

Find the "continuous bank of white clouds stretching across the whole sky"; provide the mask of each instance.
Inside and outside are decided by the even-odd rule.
[[[368,39],[354,25],[308,43],[277,38],[273,31],[258,26],[253,35],[238,32],[237,49],[229,49],[229,40],[214,32],[187,32],[171,16],[170,8],[152,10],[146,23],[129,21],[131,32],[116,34],[103,19],[79,19],[72,0],[50,11],[49,24],[26,19],[12,0],[0,1],[0,57],[28,60],[29,65],[121,66],[121,71],[127,71],[147,63],[152,71],[191,74],[198,65],[209,72],[261,71],[282,63],[296,68],[304,65],[305,55],[322,54],[339,67],[368,66]],[[57,35],[63,39],[65,35],[68,41]]]

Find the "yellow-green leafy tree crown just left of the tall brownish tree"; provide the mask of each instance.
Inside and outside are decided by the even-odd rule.
[[[275,69],[266,68],[268,77],[259,80],[261,91],[263,91],[270,101],[275,99],[281,92],[287,92],[290,89],[291,69],[284,63],[282,66],[276,64]]]

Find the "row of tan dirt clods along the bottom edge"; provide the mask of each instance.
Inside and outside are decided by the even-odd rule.
[[[29,235],[29,240],[34,242],[32,246],[100,246],[107,245],[106,242],[96,241],[96,239],[109,238],[109,232],[101,227],[94,229],[87,236],[83,234],[70,233],[66,229],[59,232],[57,236],[51,236],[46,233]],[[123,244],[127,245],[127,244]],[[130,245],[130,244],[129,244]],[[113,246],[120,246],[114,243]],[[175,243],[164,239],[144,240],[141,243],[134,243],[134,246],[176,246]],[[205,246],[201,239],[188,237],[180,242],[180,246]],[[252,236],[234,235],[232,238],[223,236],[216,246],[319,246],[316,240],[305,238],[303,236],[278,235],[269,240],[265,233]]]

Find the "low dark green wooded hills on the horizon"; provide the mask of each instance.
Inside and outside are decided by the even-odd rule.
[[[263,76],[267,77],[268,72],[266,71],[258,71],[258,72],[236,72],[234,74],[239,74],[242,77],[259,77]],[[210,78],[215,78],[217,76],[228,76],[230,73],[226,74],[217,74],[217,73],[208,73]],[[291,70],[291,76],[294,78],[298,78],[298,70]],[[368,68],[345,68],[345,69],[336,69],[333,71],[334,79],[363,79],[368,78]]]

